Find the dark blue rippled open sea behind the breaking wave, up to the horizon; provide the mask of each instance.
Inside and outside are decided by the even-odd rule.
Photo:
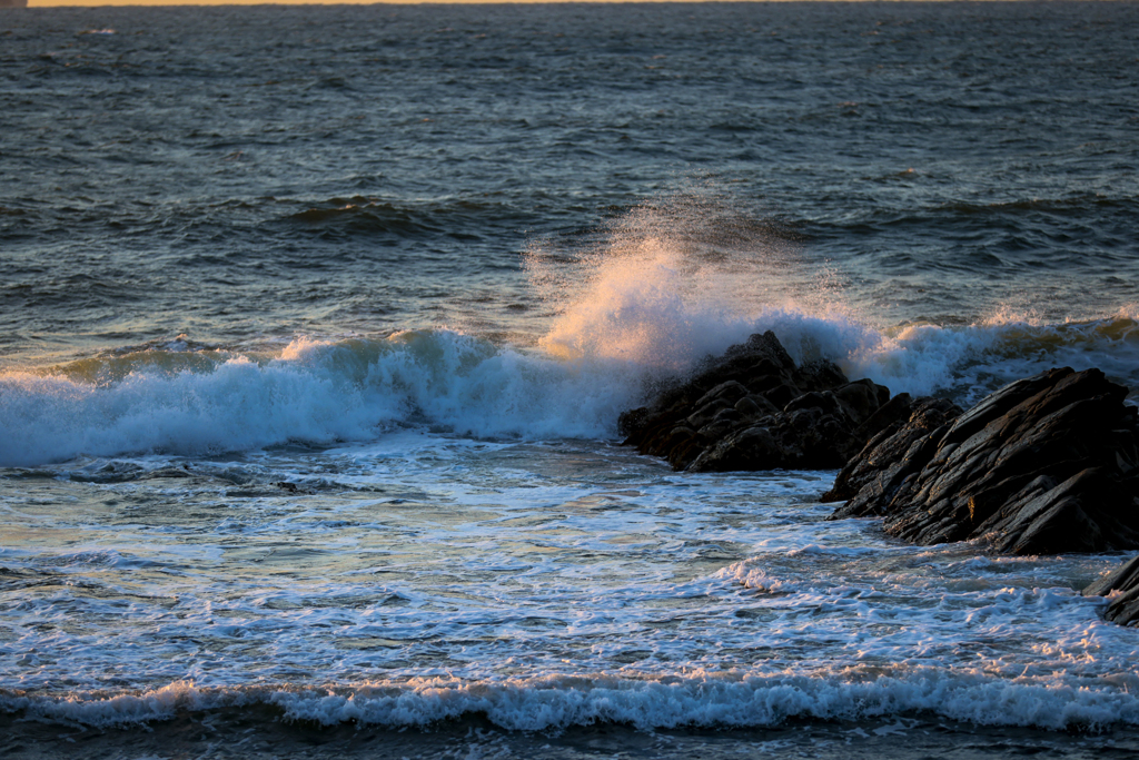
[[[879,326],[1113,313],[1139,297],[1137,13],[3,11],[3,351],[542,333],[523,251],[705,174]]]

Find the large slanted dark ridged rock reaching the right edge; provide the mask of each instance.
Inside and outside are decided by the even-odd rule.
[[[834,517],[883,515],[932,545],[986,537],[1013,554],[1139,547],[1139,422],[1098,369],[1052,369],[965,414],[913,406],[839,473]]]

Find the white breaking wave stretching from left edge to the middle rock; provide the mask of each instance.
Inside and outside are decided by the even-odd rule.
[[[9,373],[0,466],[359,441],[405,419],[481,436],[605,438],[637,401],[637,379],[622,362],[556,361],[446,330],[298,340],[276,358],[238,356],[205,371],[140,366],[106,384]]]

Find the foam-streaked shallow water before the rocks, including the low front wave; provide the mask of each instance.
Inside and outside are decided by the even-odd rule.
[[[67,480],[171,464],[5,481],[0,710],[110,726],[269,704],[525,730],[1139,720],[1132,631],[1072,590],[1117,557],[896,546],[826,520],[810,501],[826,473],[685,475],[588,441],[408,430]]]

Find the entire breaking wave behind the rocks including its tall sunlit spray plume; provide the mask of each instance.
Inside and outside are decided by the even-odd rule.
[[[965,404],[1063,365],[1139,389],[1133,308],[1062,324],[999,309],[969,325],[876,327],[829,264],[711,185],[645,203],[577,247],[538,242],[526,267],[555,312],[536,349],[450,329],[248,351],[179,336],[0,374],[0,466],[327,446],[407,424],[607,439],[654,381],[769,329],[796,361],[828,359],[852,379]]]

